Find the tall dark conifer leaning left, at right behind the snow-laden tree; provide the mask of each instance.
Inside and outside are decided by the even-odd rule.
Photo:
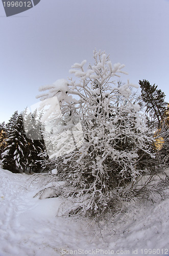
[[[166,163],[168,160],[168,103],[165,102],[165,94],[150,84],[147,80],[139,80],[141,98],[146,105],[148,126],[154,129],[154,143],[152,150],[156,152],[155,165]]]

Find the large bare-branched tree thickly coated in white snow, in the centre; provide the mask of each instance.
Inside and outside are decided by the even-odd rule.
[[[120,200],[129,197],[127,186],[141,175],[141,157],[151,157],[153,137],[146,128],[144,115],[131,93],[133,84],[118,84],[124,65],[112,63],[104,52],[94,52],[94,65],[84,69],[86,60],[75,63],[69,71],[76,76],[58,80],[38,96],[50,108],[44,120],[64,119],[66,123],[55,133],[60,145],[70,149],[64,139],[65,131],[72,131],[80,123],[81,135],[74,137],[74,147],[60,157],[60,173],[68,183],[64,196],[73,201],[69,214],[100,215],[116,210]],[[53,100],[58,99],[58,105]],[[68,118],[67,118],[68,116]],[[58,121],[59,122],[59,121]],[[83,139],[82,139],[83,137]],[[64,141],[64,142],[63,142]],[[80,143],[79,143],[80,142]],[[57,155],[57,152],[56,152]]]

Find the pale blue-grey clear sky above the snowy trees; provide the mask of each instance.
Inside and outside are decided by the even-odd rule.
[[[0,122],[75,62],[92,63],[95,48],[126,65],[124,82],[147,79],[169,102],[169,0],[41,0],[11,17],[0,3],[0,32]]]

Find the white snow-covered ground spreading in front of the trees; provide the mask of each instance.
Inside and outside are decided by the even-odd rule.
[[[169,254],[169,199],[132,206],[99,228],[56,217],[60,199],[33,198],[39,181],[31,181],[0,169],[0,256]]]

